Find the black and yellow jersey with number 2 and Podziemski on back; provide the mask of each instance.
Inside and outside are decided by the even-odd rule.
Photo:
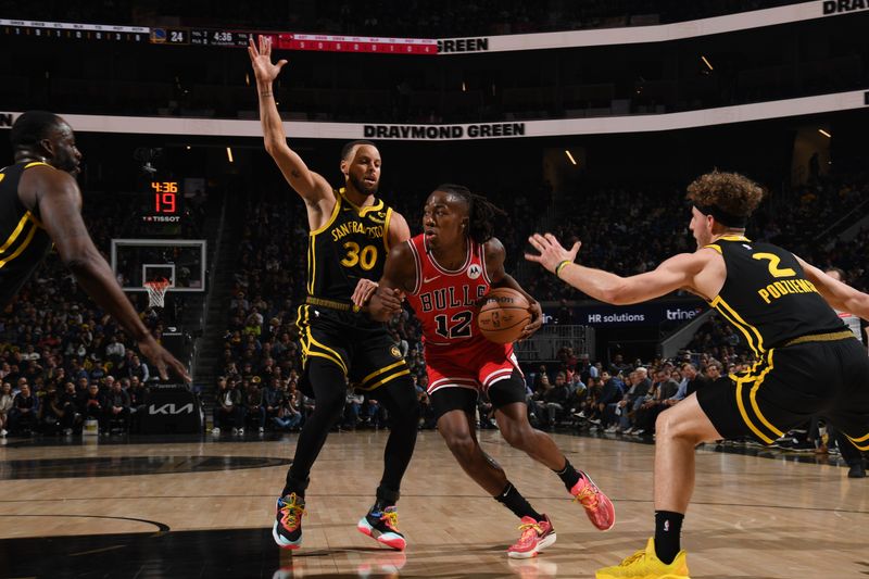
[[[791,252],[741,236],[706,247],[719,252],[727,266],[725,285],[709,305],[740,331],[757,357],[796,338],[845,329]]]

